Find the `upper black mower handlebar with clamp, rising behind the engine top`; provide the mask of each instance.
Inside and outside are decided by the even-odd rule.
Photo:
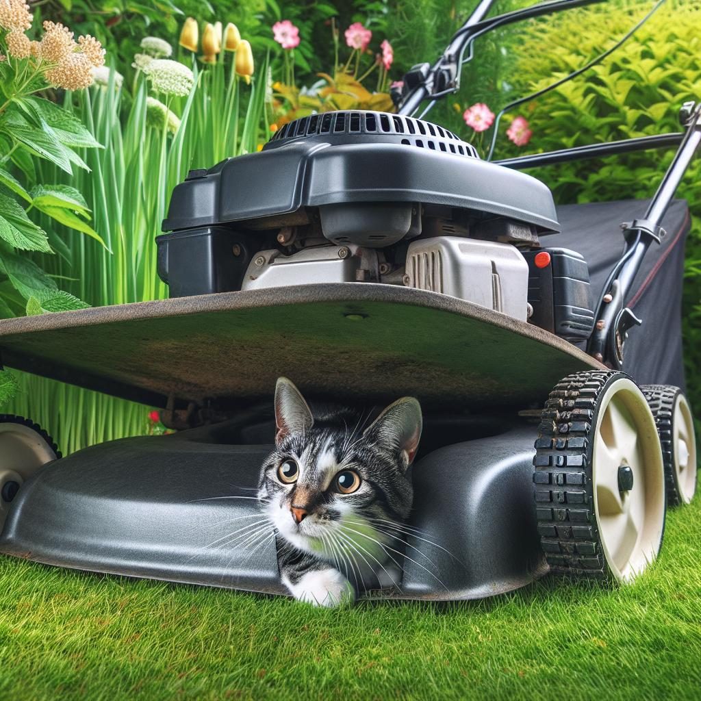
[[[484,15],[489,12],[494,0],[482,0],[472,11],[467,22],[454,34],[443,55],[433,66],[428,63],[417,64],[404,75],[404,86],[408,87],[408,90],[396,98],[397,114],[411,116],[427,97],[438,100],[459,90],[465,48],[470,46],[477,36],[513,22],[605,1],[552,0],[484,20]]]

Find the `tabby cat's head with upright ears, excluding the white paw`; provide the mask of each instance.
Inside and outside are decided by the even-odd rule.
[[[259,499],[283,540],[329,561],[365,552],[379,559],[383,523],[411,508],[407,468],[421,436],[421,408],[409,397],[365,428],[315,426],[297,388],[275,392],[278,433],[263,466]],[[355,550],[354,550],[355,549]]]

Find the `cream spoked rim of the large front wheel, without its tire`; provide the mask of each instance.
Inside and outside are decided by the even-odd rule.
[[[655,418],[629,379],[616,380],[601,397],[594,426],[592,490],[606,562],[617,580],[632,580],[660,550],[665,468]]]

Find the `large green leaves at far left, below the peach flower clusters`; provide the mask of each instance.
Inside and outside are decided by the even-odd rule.
[[[25,313],[30,298],[57,294],[55,281],[27,257],[31,252],[53,254],[54,248],[64,251],[53,231],[56,222],[102,243],[88,224],[90,209],[81,193],[68,185],[39,184],[36,164],[44,161],[74,175],[89,170],[76,147],[100,144],[77,118],[36,97],[46,88],[43,64],[13,57],[4,33],[0,50],[5,55],[0,62],[0,318],[11,318]],[[39,213],[45,215],[43,226],[36,222]],[[62,299],[64,308],[84,306],[72,296]]]

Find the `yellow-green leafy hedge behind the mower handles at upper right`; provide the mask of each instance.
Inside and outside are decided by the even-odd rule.
[[[648,9],[646,3],[618,0],[604,10],[562,13],[547,25],[527,27],[520,34],[523,48],[508,80],[522,94],[543,88],[611,46]],[[533,129],[531,147],[550,151],[679,131],[679,107],[701,97],[699,27],[699,2],[667,2],[602,64],[522,108]],[[501,144],[496,157],[510,155],[515,149]],[[559,202],[649,198],[673,156],[671,150],[647,151],[565,163],[532,174],[550,185]],[[695,220],[686,252],[683,333],[690,400],[696,407],[701,407],[700,179],[697,159],[677,193],[688,200]]]

